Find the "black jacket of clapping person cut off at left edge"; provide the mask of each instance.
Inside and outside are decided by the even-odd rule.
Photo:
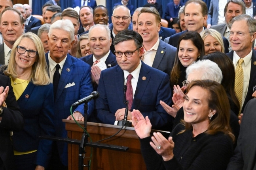
[[[17,131],[23,128],[23,116],[19,111],[19,105],[15,99],[13,89],[11,87],[10,78],[0,74],[0,86],[6,88],[9,86],[8,96],[2,120],[0,122],[0,159],[2,159],[6,170],[14,170],[13,167],[13,147],[10,138],[10,131]],[[4,169],[0,164],[0,169]]]

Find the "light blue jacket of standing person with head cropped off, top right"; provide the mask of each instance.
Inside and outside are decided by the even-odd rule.
[[[217,25],[219,15],[219,0],[211,0],[208,10],[207,24]]]

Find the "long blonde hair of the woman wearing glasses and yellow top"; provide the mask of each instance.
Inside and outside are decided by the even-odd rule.
[[[25,33],[21,35],[13,44],[13,48],[11,49],[11,55],[9,59],[9,64],[7,66],[7,69],[4,71],[4,74],[7,76],[11,76],[13,78],[17,78],[18,74],[16,72],[16,61],[15,61],[15,56],[16,56],[16,46],[18,46],[21,42],[22,39],[24,38],[29,38],[34,42],[36,46],[36,50],[38,54],[36,55],[36,61],[32,66],[32,70],[30,73],[29,81],[32,81],[34,85],[47,85],[50,83],[50,78],[48,75],[48,67],[46,63],[46,57],[44,54],[44,46],[42,44],[42,41],[40,38],[31,32]]]

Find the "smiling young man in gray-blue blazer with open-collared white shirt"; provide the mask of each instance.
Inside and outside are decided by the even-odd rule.
[[[147,65],[170,75],[176,48],[159,38],[160,28],[161,17],[158,11],[154,8],[142,8],[138,13],[138,33],[142,36],[143,47],[146,50],[142,60]]]

